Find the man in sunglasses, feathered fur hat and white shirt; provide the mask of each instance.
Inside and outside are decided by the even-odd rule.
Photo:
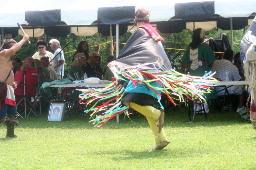
[[[53,53],[46,51],[46,47],[48,47],[48,44],[46,42],[46,34],[43,34],[41,37],[38,37],[36,48],[38,48],[38,52],[36,52],[32,58],[33,59],[39,59],[42,57],[49,57],[49,60],[52,61],[53,59]]]

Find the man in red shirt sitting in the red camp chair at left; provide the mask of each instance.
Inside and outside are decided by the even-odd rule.
[[[23,66],[24,66],[23,71],[26,71],[26,70],[36,70],[36,64],[35,64],[35,61],[34,61],[34,59],[32,57],[27,57],[24,60]],[[20,71],[14,77],[14,82],[17,84],[17,88],[14,90],[14,95],[15,95],[15,98],[16,98],[16,103],[18,103],[18,101],[21,99],[21,97],[24,94],[23,71]]]

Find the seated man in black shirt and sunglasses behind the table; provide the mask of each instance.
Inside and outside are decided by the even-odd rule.
[[[88,78],[96,77],[102,80],[102,70],[98,65],[99,56],[98,53],[93,51],[89,54],[89,61],[86,66],[84,66],[83,73],[86,73]]]

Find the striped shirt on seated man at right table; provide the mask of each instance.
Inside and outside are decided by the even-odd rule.
[[[226,70],[228,70],[228,72],[229,72],[229,81],[232,81],[233,79],[234,79],[234,81],[239,81],[241,79],[241,77],[239,76],[237,67],[235,65],[233,65],[229,60],[222,59],[222,60],[214,61],[214,64],[212,67],[212,72],[216,72],[213,75],[214,78],[217,78],[221,81],[225,81],[226,80],[226,77],[225,77]],[[222,89],[224,89],[224,87],[218,87],[218,86],[216,87],[217,91],[220,91]],[[234,90],[234,86],[228,88],[229,94],[232,94],[233,90]],[[222,96],[222,95],[224,95],[224,93],[225,93],[225,90],[218,92],[217,95]]]

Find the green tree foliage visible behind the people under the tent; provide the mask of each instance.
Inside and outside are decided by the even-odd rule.
[[[248,26],[245,29],[248,29]],[[243,38],[244,34],[245,34],[244,30],[234,30],[233,31],[233,46],[234,46],[234,53],[237,53],[240,51],[240,42],[241,39]],[[226,33],[229,41],[230,41],[230,31],[223,31],[217,28],[213,28],[213,30],[211,31],[207,31],[206,32],[206,37],[213,37],[214,39],[220,39],[220,34],[222,33]],[[160,33],[161,34],[161,33]],[[173,33],[173,34],[161,34],[161,36],[164,39],[164,42],[162,42],[162,45],[164,48],[168,48],[165,49],[165,52],[170,54],[172,58],[174,58],[176,55],[178,55],[177,58],[175,58],[174,60],[174,64],[176,64],[178,67],[180,67],[180,62],[182,59],[182,56],[185,53],[185,50],[188,46],[188,44],[192,41],[192,34],[193,32],[190,30],[183,30],[180,33]],[[127,40],[130,37],[130,33],[128,33],[123,39],[122,36],[119,36],[119,40],[122,43],[126,43]],[[50,43],[49,41],[51,39],[58,39],[60,41],[60,45],[63,48],[66,44],[68,44],[69,42],[71,42],[63,51],[64,51],[64,57],[65,57],[65,62],[67,64],[67,66],[65,66],[65,71],[64,71],[64,76],[68,77],[69,75],[69,70],[71,67],[71,61],[73,58],[73,55],[76,51],[75,47],[77,47],[77,45],[79,44],[80,41],[87,41],[89,47],[94,46],[89,48],[90,52],[92,51],[96,51],[98,52],[99,50],[99,44],[102,44],[100,47],[100,51],[99,51],[99,56],[102,57],[102,67],[105,68],[107,66],[107,57],[111,54],[111,48],[110,48],[110,43],[106,43],[108,40],[110,40],[110,36],[103,36],[99,33],[96,33],[93,36],[76,36],[74,34],[69,34],[66,37],[49,37],[47,36],[47,42],[48,42],[48,47],[46,48],[47,51],[50,51],[52,53],[54,53],[53,50],[51,50],[50,48]],[[22,39],[21,35],[18,35],[14,38],[17,42],[20,41]],[[38,38],[30,38],[30,42],[31,45],[29,45],[28,43],[25,43],[22,48],[16,52],[16,56],[20,58],[22,61],[24,61],[24,59],[27,56],[33,56],[35,52],[38,51],[38,49],[35,47],[35,44],[37,42]],[[113,36],[113,41],[115,42],[115,36]],[[106,43],[106,44],[103,44]],[[121,50],[123,49],[124,44],[119,44],[119,53],[121,52]],[[114,48],[114,56],[116,55],[116,48]],[[174,50],[174,49],[182,49],[182,50]],[[73,51],[73,52],[70,52]]]

